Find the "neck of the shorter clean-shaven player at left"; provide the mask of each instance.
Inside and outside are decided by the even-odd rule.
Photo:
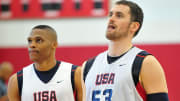
[[[35,68],[39,71],[48,71],[56,65],[56,59],[47,59],[41,62],[34,62]]]

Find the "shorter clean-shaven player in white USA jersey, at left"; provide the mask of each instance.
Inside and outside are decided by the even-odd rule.
[[[81,68],[56,60],[55,30],[47,25],[35,26],[27,40],[30,60],[34,63],[10,78],[9,100],[82,101]]]

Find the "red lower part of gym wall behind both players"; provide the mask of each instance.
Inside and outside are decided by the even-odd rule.
[[[162,64],[169,89],[170,101],[180,101],[178,77],[180,71],[180,44],[152,44],[136,45],[152,53]],[[81,65],[86,59],[97,55],[107,49],[107,46],[63,46],[56,51],[58,60]],[[25,47],[0,48],[0,62],[10,61],[14,65],[14,72],[30,64],[28,51]]]

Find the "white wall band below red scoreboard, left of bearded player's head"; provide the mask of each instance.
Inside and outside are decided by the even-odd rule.
[[[0,21],[0,46],[26,45],[32,27],[52,26],[58,33],[60,45],[104,43],[106,18],[11,20]]]

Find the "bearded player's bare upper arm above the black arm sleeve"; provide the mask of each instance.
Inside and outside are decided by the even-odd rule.
[[[145,57],[140,72],[140,79],[148,94],[168,92],[164,70],[159,61],[152,55]]]

